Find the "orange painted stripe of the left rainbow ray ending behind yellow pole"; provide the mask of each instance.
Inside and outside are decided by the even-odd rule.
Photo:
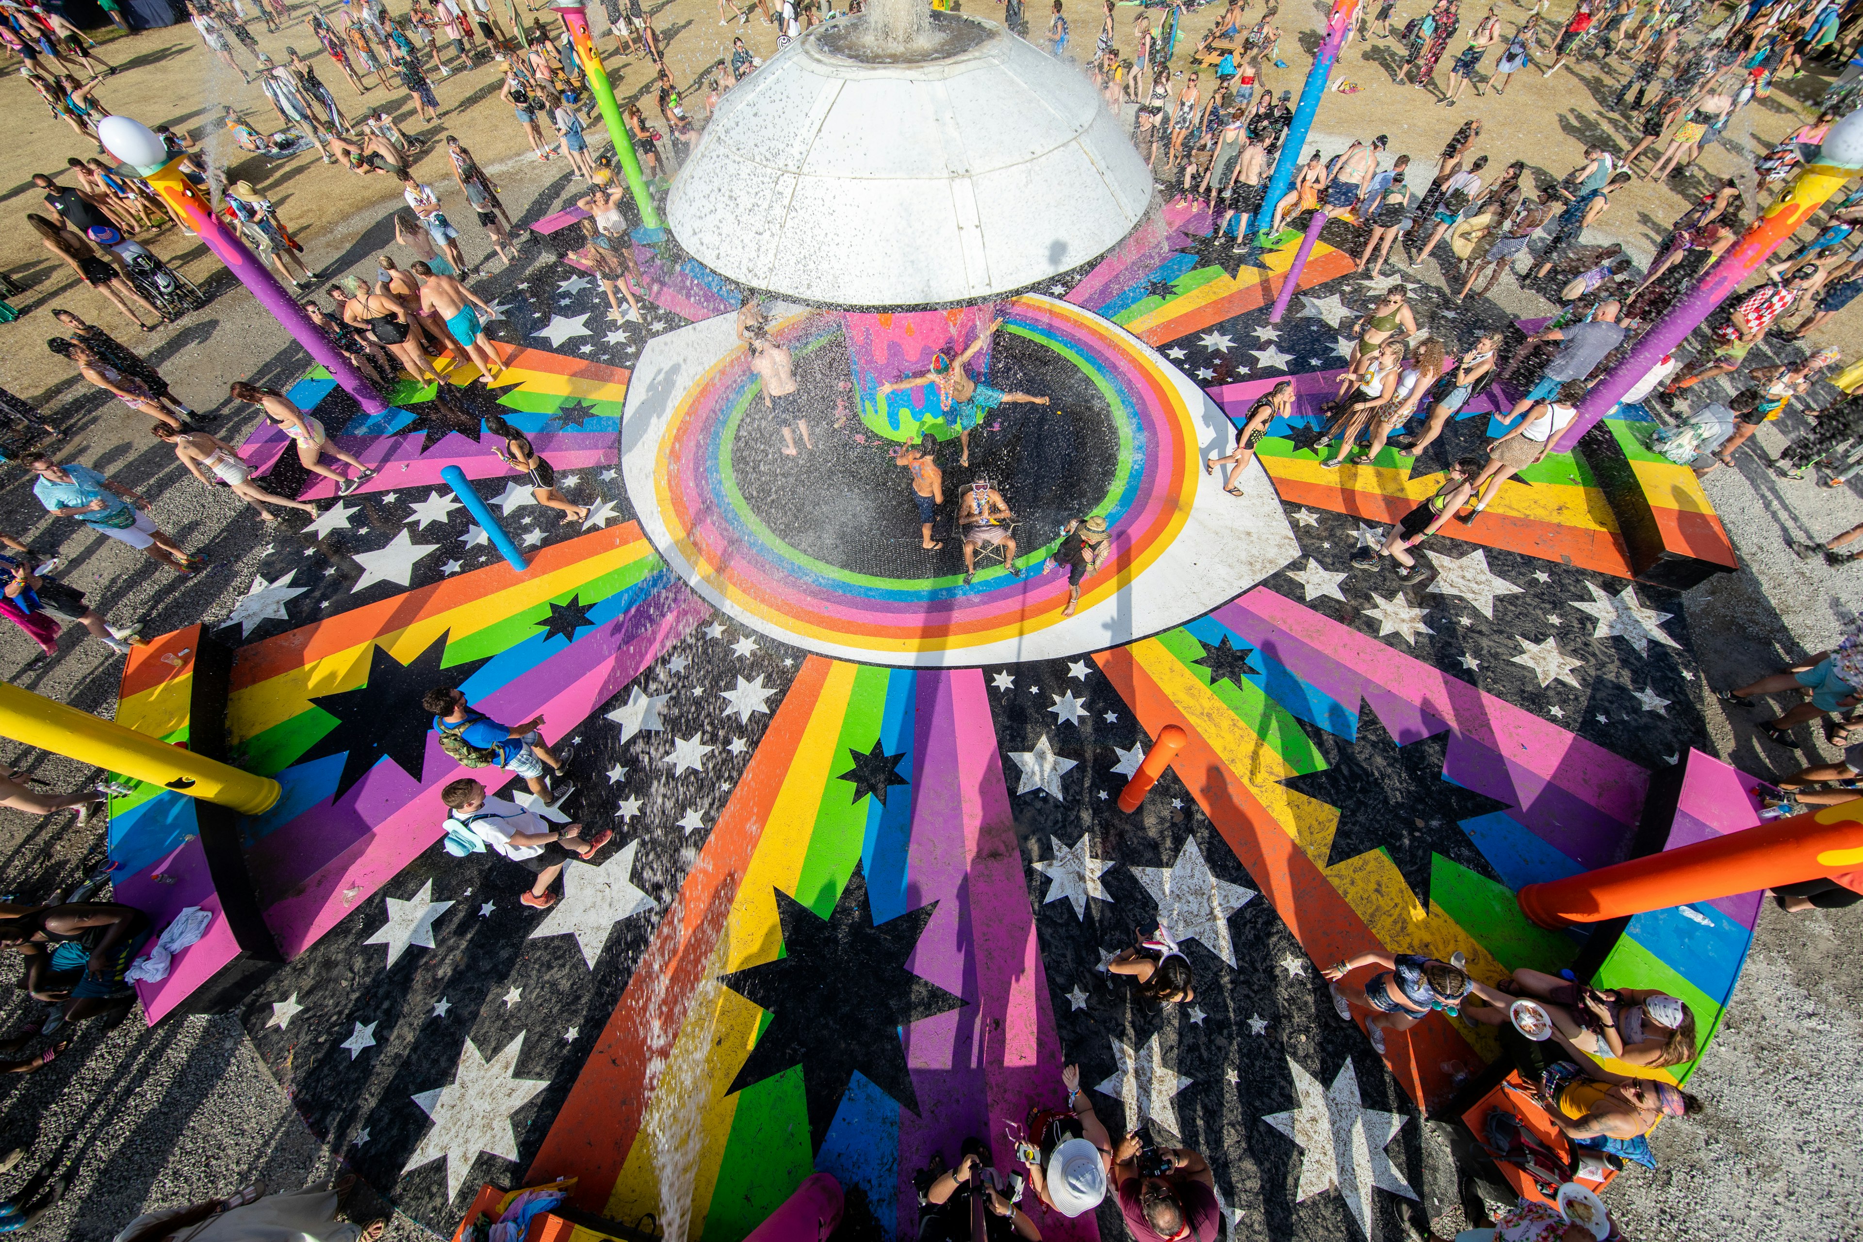
[[[376,603],[330,616],[309,626],[263,639],[240,648],[238,663],[233,667],[233,689],[240,691],[257,685],[281,672],[302,668],[324,655],[347,652],[361,642],[406,629],[417,620],[436,616],[449,609],[466,607],[477,601],[490,601],[499,590],[516,587],[531,574],[551,574],[564,570],[587,557],[611,547],[639,542],[641,527],[635,521],[609,531],[591,531],[563,544],[546,544],[531,557],[531,566],[520,575],[503,560],[494,560],[483,570],[447,577],[432,587],[419,587],[399,596],[389,596]]]

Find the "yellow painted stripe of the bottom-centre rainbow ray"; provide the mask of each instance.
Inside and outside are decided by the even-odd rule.
[[[704,1214],[717,1186],[730,1123],[738,1114],[738,1097],[727,1095],[727,1089],[751,1056],[764,1015],[758,1006],[715,983],[715,978],[775,961],[782,950],[775,890],[796,892],[857,670],[859,665],[836,661],[822,683],[782,791],[771,804],[756,853],[743,870],[706,983],[686,1011],[673,1056],[641,1121],[641,1134],[615,1181],[607,1203],[607,1214],[615,1220],[656,1212],[665,1227],[671,1205],[660,1203],[661,1182],[689,1179],[691,1222],[686,1236],[704,1235]],[[695,1117],[700,1102],[702,1114]],[[680,1175],[663,1177],[661,1166],[678,1169]]]

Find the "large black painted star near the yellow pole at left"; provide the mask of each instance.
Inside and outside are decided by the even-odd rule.
[[[332,803],[341,799],[384,756],[415,780],[421,778],[427,736],[432,732],[434,721],[421,708],[421,696],[440,685],[456,689],[486,663],[484,659],[468,659],[442,668],[440,661],[445,652],[447,635],[440,635],[425,652],[404,665],[376,644],[369,654],[367,682],[350,691],[311,696],[311,702],[333,715],[337,724],[311,743],[311,749],[296,762],[307,763],[332,754],[347,756],[343,775],[337,776],[337,788],[330,795]]]

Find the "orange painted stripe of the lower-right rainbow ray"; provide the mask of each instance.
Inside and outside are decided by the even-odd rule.
[[[1151,737],[1166,724],[1183,728],[1187,741],[1172,762],[1177,778],[1217,825],[1308,957],[1334,963],[1356,953],[1384,952],[1358,911],[1256,801],[1248,786],[1230,773],[1217,750],[1185,721],[1177,704],[1138,667],[1127,648],[1099,652],[1094,663]],[[1384,1060],[1405,1093],[1421,1108],[1442,1106],[1455,1095],[1457,1084],[1446,1065],[1459,1061],[1468,1071],[1481,1065],[1462,1033],[1440,1013],[1390,1035]]]

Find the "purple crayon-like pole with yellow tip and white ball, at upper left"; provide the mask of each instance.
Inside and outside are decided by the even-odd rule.
[[[168,158],[168,147],[149,127],[129,117],[104,117],[97,125],[97,138],[110,155],[136,169],[136,175],[145,179],[162,196],[162,201],[173,209],[175,218],[199,235],[207,250],[214,251],[214,257],[227,264],[227,272],[252,290],[259,305],[285,326],[285,331],[304,346],[304,352],[315,358],[345,393],[356,398],[363,413],[382,413],[388,410],[388,402],[382,400],[374,387],[358,374],[356,367],[311,322],[304,307],[298,305],[298,298],[279,285],[272,270],[255,253],[246,250],[246,242],[238,240],[214,216],[212,205],[181,175],[181,156]]]

